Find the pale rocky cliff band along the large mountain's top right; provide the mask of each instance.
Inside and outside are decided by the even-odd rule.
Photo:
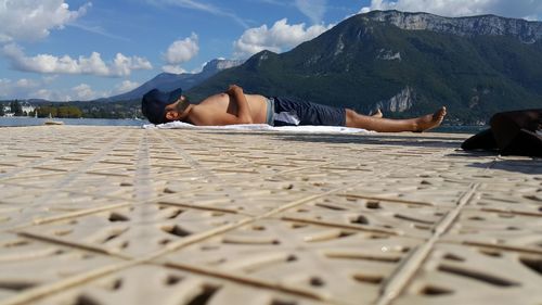
[[[361,16],[367,21],[388,23],[406,30],[431,30],[459,36],[513,36],[524,43],[534,43],[542,39],[542,22],[495,15],[442,17],[428,13],[374,11]]]

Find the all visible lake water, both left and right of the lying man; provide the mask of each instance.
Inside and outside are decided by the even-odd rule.
[[[0,127],[41,126],[50,118],[35,117],[0,117]],[[143,126],[150,124],[146,119],[107,119],[107,118],[53,118],[61,120],[64,125],[89,125],[89,126]],[[488,128],[486,126],[441,126],[433,129],[435,132],[453,134],[477,134]]]

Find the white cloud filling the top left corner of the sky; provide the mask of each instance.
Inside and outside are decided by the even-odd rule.
[[[92,4],[70,11],[64,0],[0,0],[0,42],[39,40],[85,15]]]

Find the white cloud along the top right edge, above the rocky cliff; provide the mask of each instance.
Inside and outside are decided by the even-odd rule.
[[[539,0],[372,0],[362,13],[372,10],[399,10],[405,12],[428,12],[442,16],[469,16],[495,14],[507,17],[538,18],[542,16],[542,1]]]

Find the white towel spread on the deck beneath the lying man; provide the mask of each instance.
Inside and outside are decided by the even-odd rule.
[[[283,131],[283,132],[307,132],[307,134],[322,134],[322,132],[332,132],[332,134],[369,134],[374,131],[367,131],[366,129],[361,128],[350,128],[350,127],[341,127],[341,126],[281,126],[273,127],[267,124],[240,124],[240,125],[225,125],[225,126],[195,126],[192,124],[183,123],[183,122],[170,122],[166,124],[147,124],[143,125],[145,129],[158,128],[158,129],[220,129],[220,130],[269,130],[269,131]]]

